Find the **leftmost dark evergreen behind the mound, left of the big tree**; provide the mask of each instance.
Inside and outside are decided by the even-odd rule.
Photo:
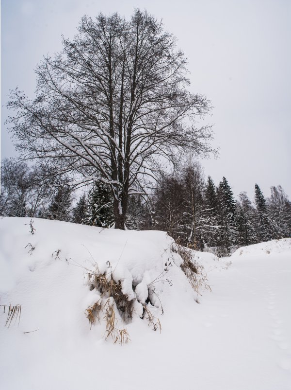
[[[71,212],[71,190],[68,185],[60,186],[57,189],[51,204],[49,205],[47,218],[58,221],[69,221]]]

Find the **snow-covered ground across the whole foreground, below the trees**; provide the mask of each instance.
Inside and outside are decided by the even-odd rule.
[[[1,390],[291,389],[291,239],[195,252],[212,290],[197,295],[164,232],[29,221],[0,220],[0,305],[21,305],[10,327],[0,307]],[[135,298],[127,344],[103,315],[90,330],[96,264]],[[161,332],[140,318],[149,290]]]

